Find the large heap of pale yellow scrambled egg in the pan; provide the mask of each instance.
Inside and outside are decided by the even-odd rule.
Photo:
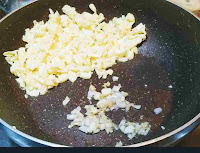
[[[26,29],[25,47],[4,53],[27,95],[44,95],[67,80],[90,79],[93,72],[106,79],[113,74],[110,67],[138,54],[137,45],[146,39],[145,25],[132,29],[135,18],[130,13],[106,23],[93,4],[89,7],[92,14],[80,14],[68,5],[64,15],[50,9],[46,23],[34,21],[33,28]]]

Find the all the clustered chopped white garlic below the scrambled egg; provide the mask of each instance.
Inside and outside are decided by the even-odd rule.
[[[78,126],[79,130],[88,134],[96,134],[103,130],[112,133],[114,130],[120,129],[128,136],[129,140],[137,135],[147,135],[151,129],[148,122],[127,122],[123,119],[119,125],[116,125],[106,116],[105,113],[108,111],[123,109],[127,112],[130,107],[135,108],[133,103],[125,100],[128,93],[120,91],[120,88],[121,85],[119,84],[113,86],[112,89],[105,87],[101,92],[97,92],[96,88],[91,85],[88,91],[88,99],[94,98],[97,101],[96,105],[85,106],[86,116],[81,113],[80,106],[74,109],[71,114],[67,115],[67,119],[72,121],[68,128]],[[138,105],[136,105],[136,109],[138,109]]]

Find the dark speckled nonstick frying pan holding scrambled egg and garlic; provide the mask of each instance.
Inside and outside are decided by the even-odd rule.
[[[151,131],[129,141],[120,131],[87,135],[78,128],[68,129],[69,114],[77,106],[89,104],[86,94],[92,83],[101,89],[105,81],[94,74],[90,80],[67,81],[44,96],[24,97],[3,52],[24,44],[22,35],[33,20],[47,20],[48,9],[58,10],[68,4],[78,12],[90,11],[94,3],[106,21],[133,13],[135,25],[144,23],[147,40],[139,46],[139,55],[113,66],[128,101],[142,105],[141,110],[109,112],[114,123],[123,117],[129,121],[148,121]],[[200,24],[186,10],[163,0],[41,0],[6,16],[0,23],[0,122],[4,132],[21,146],[169,146],[181,140],[199,125],[200,117]],[[111,85],[115,83],[112,82]],[[147,86],[146,86],[147,85]],[[169,88],[172,86],[172,88]],[[64,107],[62,101],[71,97]],[[162,107],[155,115],[153,110]],[[143,118],[141,118],[143,116]],[[16,127],[13,128],[13,126]],[[161,126],[164,126],[163,130]]]

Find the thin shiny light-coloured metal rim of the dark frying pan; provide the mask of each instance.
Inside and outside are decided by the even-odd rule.
[[[193,17],[195,17],[198,21],[200,21],[200,19],[197,18],[197,16],[194,15],[194,13],[192,13],[192,12],[186,10],[185,8],[181,7],[180,5],[175,4],[175,3],[173,3],[173,2],[171,2],[171,1],[169,1],[169,0],[166,0],[166,1],[169,2],[169,3],[171,3],[171,4],[176,5],[177,7],[182,8],[183,10],[185,10],[186,12],[188,12],[189,14],[191,14]],[[32,2],[30,2],[30,3],[28,3],[28,4],[24,5],[24,6],[22,6],[22,7],[18,8],[18,9],[16,9],[15,11],[12,11],[11,13],[7,14],[7,15],[4,16],[2,19],[0,19],[0,24],[1,24],[1,22],[3,22],[6,18],[8,18],[9,16],[11,16],[13,13],[15,13],[15,12],[17,12],[17,11],[19,11],[19,10],[21,10],[21,9],[23,9],[23,8],[25,8],[25,7],[27,7],[27,6],[29,6],[29,5],[31,5],[31,4],[33,4],[33,3],[35,3],[35,2],[38,2],[38,0],[33,0]],[[144,142],[136,143],[136,144],[133,144],[133,145],[127,145],[127,146],[123,146],[123,147],[142,147],[142,146],[147,146],[147,145],[150,145],[150,144],[154,144],[154,143],[156,143],[156,142],[159,142],[159,141],[162,141],[162,140],[164,140],[164,139],[167,139],[167,138],[169,138],[169,137],[171,137],[171,136],[174,136],[175,134],[178,134],[179,132],[181,132],[181,131],[183,131],[184,129],[186,129],[186,128],[188,128],[189,126],[191,126],[191,125],[192,125],[193,123],[195,123],[198,119],[200,119],[200,113],[199,113],[198,115],[196,115],[193,119],[191,119],[189,122],[185,123],[184,125],[180,126],[179,128],[177,128],[177,129],[175,129],[175,130],[173,130],[173,131],[171,131],[171,132],[169,132],[169,133],[167,133],[167,134],[165,134],[165,135],[159,136],[159,137],[154,138],[154,139],[151,139],[151,140],[147,140],[147,141],[144,141]],[[42,144],[42,145],[45,145],[45,146],[49,146],[49,147],[73,147],[73,146],[66,146],[66,145],[60,145],[60,144],[56,144],[56,143],[51,143],[51,142],[48,142],[48,141],[45,141],[45,140],[42,140],[42,139],[38,139],[38,138],[36,138],[36,137],[33,137],[33,136],[29,135],[29,134],[26,134],[26,133],[24,133],[24,132],[22,132],[22,131],[19,131],[19,130],[13,128],[10,124],[8,124],[7,122],[5,122],[5,121],[4,121],[3,119],[1,119],[1,118],[0,118],[0,123],[1,123],[3,126],[5,126],[6,128],[8,128],[9,130],[13,131],[14,133],[16,133],[16,134],[18,134],[18,135],[20,135],[20,136],[22,136],[22,137],[24,137],[24,138],[26,138],[26,139],[29,139],[29,140],[31,140],[31,141],[33,141],[33,142],[36,142],[36,143],[39,143],[39,144]],[[194,129],[194,127],[193,127],[192,129]],[[191,132],[192,129],[191,129],[189,132]],[[189,133],[189,132],[188,132],[188,133]]]

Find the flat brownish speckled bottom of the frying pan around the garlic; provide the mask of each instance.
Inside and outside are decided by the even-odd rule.
[[[68,146],[115,146],[116,142],[122,141],[123,145],[130,145],[142,142],[152,138],[152,135],[164,124],[172,108],[173,93],[169,89],[171,85],[168,73],[160,67],[153,58],[147,58],[138,55],[134,60],[127,63],[119,63],[113,67],[115,76],[119,77],[119,81],[113,82],[109,76],[106,80],[98,79],[93,75],[90,80],[78,79],[75,83],[69,81],[50,90],[46,95],[36,98],[25,99],[21,96],[21,107],[25,107],[31,115],[34,126],[38,127],[47,137],[45,140]],[[119,124],[125,117],[131,122],[149,122],[152,126],[149,135],[133,138],[131,141],[122,132],[114,131],[107,134],[102,131],[95,135],[87,135],[78,130],[77,127],[68,129],[70,121],[67,120],[69,114],[77,106],[83,108],[89,105],[87,92],[89,85],[93,84],[97,91],[102,89],[102,85],[107,81],[113,85],[122,85],[122,91],[129,93],[127,100],[137,105],[141,105],[140,110],[132,109],[129,112],[122,110],[108,112],[107,116],[112,119],[115,124]],[[67,106],[62,105],[62,101],[66,96],[70,97]],[[19,97],[19,96],[18,96]],[[93,101],[95,104],[95,101]],[[162,113],[156,115],[154,109],[161,107]],[[26,131],[26,126],[20,126],[18,129]],[[29,129],[28,134],[35,137]]]

